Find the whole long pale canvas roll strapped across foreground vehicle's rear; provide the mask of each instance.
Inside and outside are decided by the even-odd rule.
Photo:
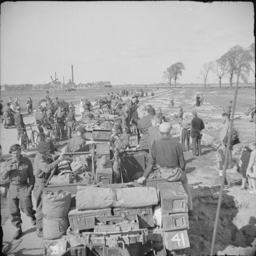
[[[112,189],[78,186],[76,194],[78,210],[145,207],[157,205],[158,201],[159,194],[154,187]]]

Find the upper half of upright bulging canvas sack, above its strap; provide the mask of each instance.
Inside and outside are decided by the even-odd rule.
[[[43,214],[47,218],[67,218],[71,205],[71,193],[52,191],[42,196]]]

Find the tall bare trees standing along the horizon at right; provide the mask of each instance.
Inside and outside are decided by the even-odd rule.
[[[174,79],[174,86],[176,87],[176,80],[178,76],[182,75],[184,69],[185,66],[181,62],[172,64],[163,72],[162,78],[168,80],[169,86],[171,86],[172,79]],[[234,77],[240,76],[244,82],[248,82],[251,71],[255,76],[255,43],[247,48],[236,45],[219,59],[204,63],[199,72],[199,78],[203,80],[206,88],[209,74],[213,73],[219,81],[220,89],[222,89],[222,79],[228,77],[230,88],[232,88]]]

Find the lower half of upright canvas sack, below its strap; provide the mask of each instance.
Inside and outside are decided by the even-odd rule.
[[[44,239],[57,239],[65,236],[69,227],[69,219],[43,218]]]

